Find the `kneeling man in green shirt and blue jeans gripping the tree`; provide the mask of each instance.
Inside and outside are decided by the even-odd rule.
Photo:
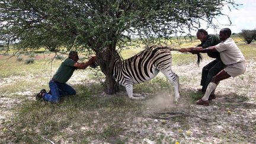
[[[96,57],[92,57],[88,60],[88,62],[79,63],[78,62],[78,53],[72,51],[69,53],[67,59],[65,59],[53,78],[49,82],[50,92],[46,92],[46,89],[41,89],[39,94],[36,95],[36,99],[40,100],[43,98],[44,101],[50,101],[57,103],[60,100],[61,95],[75,95],[76,91],[70,85],[66,84],[66,82],[71,78],[73,72],[76,69],[85,69],[87,66],[94,63]]]

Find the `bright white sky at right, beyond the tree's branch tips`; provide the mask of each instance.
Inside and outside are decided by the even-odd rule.
[[[229,25],[228,18],[222,16],[218,17],[219,29],[213,30],[212,28],[206,29],[206,25],[202,26],[208,31],[209,34],[219,34],[221,28],[230,28],[232,33],[240,33],[243,29],[254,30],[256,29],[256,1],[255,0],[235,0],[236,4],[242,4],[238,9],[223,8],[223,13],[229,15],[232,25]],[[196,34],[196,32],[194,32]],[[195,34],[192,35],[195,35]]]

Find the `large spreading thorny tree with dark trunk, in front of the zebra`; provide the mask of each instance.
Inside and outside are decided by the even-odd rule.
[[[225,15],[225,5],[238,6],[233,0],[7,0],[0,2],[0,40],[17,43],[18,50],[45,46],[57,51],[60,45],[92,50],[106,76],[106,92],[113,94],[111,55],[122,41],[136,35],[156,43],[197,30],[201,21],[215,27],[213,20]]]

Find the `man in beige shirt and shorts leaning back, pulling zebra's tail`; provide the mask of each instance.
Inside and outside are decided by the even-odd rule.
[[[208,85],[206,92],[200,100],[197,101],[199,105],[209,105],[209,95],[217,87],[220,81],[229,77],[235,77],[245,72],[245,58],[242,55],[241,50],[236,46],[235,41],[231,38],[231,30],[229,28],[223,28],[220,30],[219,37],[222,40],[221,43],[216,46],[210,46],[206,49],[191,49],[188,52],[195,53],[208,53],[208,52],[220,52],[220,59],[226,65],[222,71],[213,76],[212,81]]]

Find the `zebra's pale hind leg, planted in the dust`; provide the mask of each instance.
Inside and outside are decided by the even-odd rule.
[[[162,71],[161,71],[162,72]],[[180,98],[180,82],[179,77],[174,72],[162,72],[164,75],[169,79],[169,81],[172,82],[174,85],[174,95],[175,95],[175,101],[178,102],[178,99]]]

